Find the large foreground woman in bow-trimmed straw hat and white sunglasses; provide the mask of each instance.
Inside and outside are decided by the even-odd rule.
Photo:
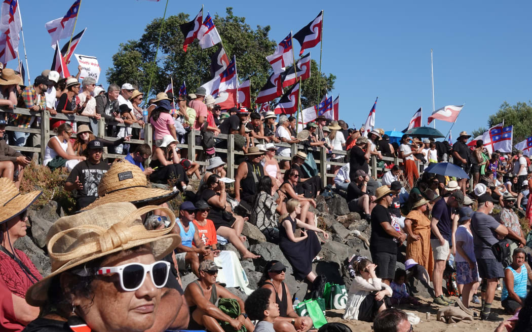
[[[169,227],[144,227],[143,215],[160,208],[122,202],[58,219],[47,236],[52,273],[26,293],[41,316],[26,330],[165,330],[178,310],[162,315],[170,263],[161,259],[181,239],[167,208]]]

